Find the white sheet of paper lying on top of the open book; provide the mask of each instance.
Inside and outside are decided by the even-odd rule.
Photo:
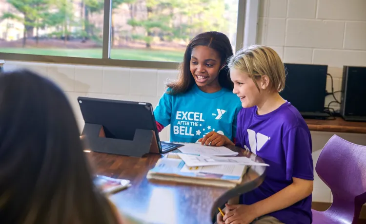
[[[240,157],[220,157],[207,155],[191,155],[178,153],[187,167],[217,166],[217,165],[246,165],[246,166],[268,166],[264,163],[257,163],[251,159]]]

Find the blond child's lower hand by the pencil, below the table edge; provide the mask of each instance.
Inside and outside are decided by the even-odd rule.
[[[252,205],[226,204],[225,206],[229,211],[224,215],[224,224],[250,224],[257,218],[256,211]]]

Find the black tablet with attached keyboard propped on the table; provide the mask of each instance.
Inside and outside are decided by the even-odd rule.
[[[85,124],[102,126],[105,138],[133,141],[137,129],[150,130],[154,131],[160,153],[182,146],[160,141],[150,103],[90,97],[78,97],[78,102]]]

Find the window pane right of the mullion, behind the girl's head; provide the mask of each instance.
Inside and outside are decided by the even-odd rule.
[[[205,31],[226,34],[235,49],[239,0],[114,0],[111,58],[183,59],[190,39]]]

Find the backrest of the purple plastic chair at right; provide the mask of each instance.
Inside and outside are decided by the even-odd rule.
[[[315,170],[332,191],[334,202],[355,202],[356,206],[366,203],[366,146],[333,135],[320,153]]]

